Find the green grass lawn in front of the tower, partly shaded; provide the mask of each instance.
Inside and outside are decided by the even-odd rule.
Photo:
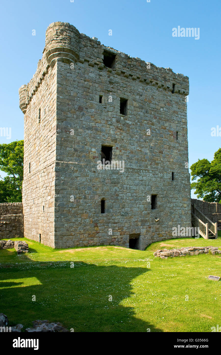
[[[47,319],[75,332],[211,332],[221,326],[221,282],[208,280],[221,276],[221,257],[153,256],[161,248],[221,247],[221,236],[166,240],[145,251],[115,246],[54,250],[23,240],[27,254],[0,250],[0,312],[10,325],[22,323],[25,329]]]

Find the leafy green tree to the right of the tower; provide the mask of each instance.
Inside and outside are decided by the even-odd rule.
[[[192,181],[191,189],[196,189],[197,198],[207,202],[221,203],[221,148],[214,154],[214,160],[198,159],[190,167]]]

